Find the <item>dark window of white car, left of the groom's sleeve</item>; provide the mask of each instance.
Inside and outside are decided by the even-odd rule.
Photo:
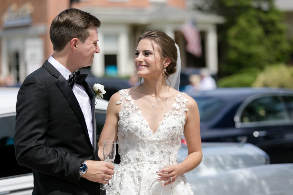
[[[32,173],[30,168],[21,166],[17,163],[14,150],[14,129],[15,129],[15,114],[7,114],[0,116],[0,171],[1,177],[10,177]],[[7,163],[9,168],[7,168]]]

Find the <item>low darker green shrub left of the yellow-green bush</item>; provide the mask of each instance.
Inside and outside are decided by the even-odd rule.
[[[237,74],[219,79],[217,85],[218,87],[251,87],[259,73],[260,70],[256,68],[243,69]]]

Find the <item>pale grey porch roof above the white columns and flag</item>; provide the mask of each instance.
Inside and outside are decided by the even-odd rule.
[[[183,23],[188,19],[195,20],[197,23],[224,23],[224,18],[218,15],[207,15],[171,6],[84,7],[83,10],[96,15],[103,23]]]

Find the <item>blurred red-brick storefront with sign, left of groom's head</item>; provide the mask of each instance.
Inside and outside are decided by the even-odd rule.
[[[21,83],[52,54],[49,29],[68,1],[3,0],[0,6],[0,75]]]

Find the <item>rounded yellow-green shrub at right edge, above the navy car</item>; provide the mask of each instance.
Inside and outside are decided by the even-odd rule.
[[[293,88],[293,67],[285,64],[267,66],[252,86]]]

